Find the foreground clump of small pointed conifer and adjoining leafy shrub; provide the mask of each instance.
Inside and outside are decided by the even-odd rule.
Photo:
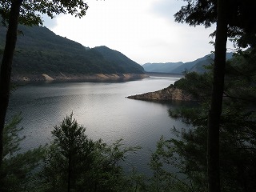
[[[130,179],[119,162],[138,147],[123,147],[122,139],[110,146],[93,142],[85,131],[73,114],[54,127],[41,173],[42,191],[129,191]]]

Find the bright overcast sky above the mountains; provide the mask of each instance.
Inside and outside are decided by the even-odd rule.
[[[44,19],[55,34],[83,46],[108,46],[128,58],[146,62],[190,62],[214,47],[209,34],[214,27],[174,22],[182,0],[87,0],[84,18],[61,15]]]

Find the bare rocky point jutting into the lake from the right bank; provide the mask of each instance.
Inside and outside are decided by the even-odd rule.
[[[127,98],[145,100],[145,101],[194,101],[195,99],[192,95],[186,93],[184,90],[180,90],[173,85],[154,92],[149,92],[146,94],[136,94],[128,96]]]

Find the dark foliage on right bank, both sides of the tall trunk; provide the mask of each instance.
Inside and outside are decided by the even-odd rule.
[[[222,191],[253,191],[256,187],[254,58],[254,51],[247,50],[236,55],[226,67],[220,128]],[[175,86],[185,88],[191,94],[199,93],[200,99],[198,105],[192,108],[170,110],[172,118],[180,118],[191,127],[182,130],[174,128],[176,138],[161,138],[158,142],[150,166],[159,191],[168,188],[174,191],[207,190],[206,127],[210,98],[202,93],[211,89],[211,79],[209,71],[201,75],[186,74],[185,78],[175,82]]]

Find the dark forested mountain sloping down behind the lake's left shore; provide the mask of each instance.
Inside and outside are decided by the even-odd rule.
[[[143,74],[142,66],[106,46],[90,49],[42,26],[19,26],[13,74]],[[0,30],[0,49],[6,29]]]

